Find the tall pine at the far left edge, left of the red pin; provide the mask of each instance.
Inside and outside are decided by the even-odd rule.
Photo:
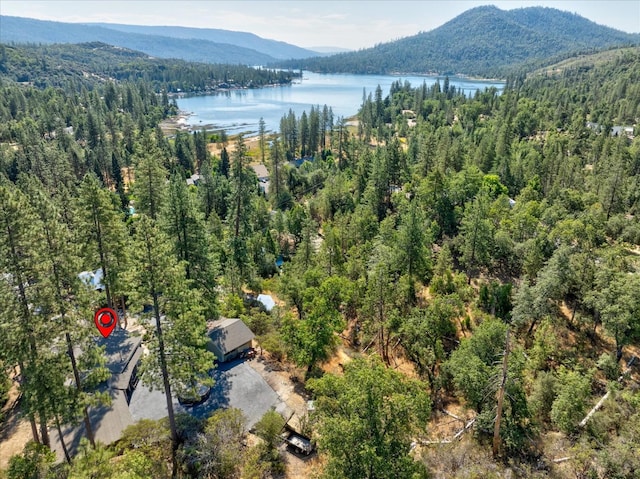
[[[2,349],[20,367],[24,411],[33,438],[49,446],[48,422],[55,403],[51,391],[65,378],[60,354],[51,348],[60,337],[60,322],[51,321],[47,309],[51,291],[45,281],[43,225],[27,197],[12,184],[0,185],[0,205],[0,271],[9,293],[3,295]]]

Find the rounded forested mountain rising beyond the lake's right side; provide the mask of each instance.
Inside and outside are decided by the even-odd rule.
[[[553,8],[466,11],[429,32],[358,52],[287,62],[322,72],[463,73],[504,76],[527,64],[580,50],[639,44],[640,35],[597,25]]]

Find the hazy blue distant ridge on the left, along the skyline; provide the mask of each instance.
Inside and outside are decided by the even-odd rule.
[[[0,42],[51,44],[98,41],[157,58],[244,65],[266,65],[284,58],[317,54],[284,42],[265,40],[251,33],[186,27],[115,27],[118,28],[108,28],[108,24],[51,22],[2,15]],[[160,35],[160,32],[175,36]],[[228,42],[212,41],[213,38],[227,39]]]

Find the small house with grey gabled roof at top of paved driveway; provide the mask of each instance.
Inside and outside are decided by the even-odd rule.
[[[221,363],[231,361],[252,347],[255,335],[240,318],[220,318],[207,324],[207,349]]]

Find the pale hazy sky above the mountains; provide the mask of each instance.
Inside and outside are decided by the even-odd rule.
[[[554,7],[640,32],[640,0],[0,0],[0,13],[64,22],[181,25],[255,33],[301,47],[366,48],[432,30],[478,5]]]

